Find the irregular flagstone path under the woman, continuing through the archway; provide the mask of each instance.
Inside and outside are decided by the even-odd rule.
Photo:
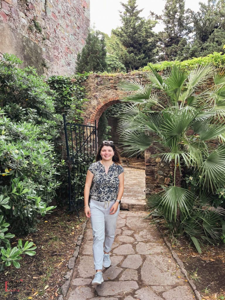
[[[142,201],[144,172],[126,168],[125,176],[124,199]],[[103,268],[104,282],[98,286],[91,286],[95,270],[91,222],[87,222],[67,300],[193,300],[190,286],[158,231],[143,219],[145,215],[144,211],[120,211],[112,264]]]

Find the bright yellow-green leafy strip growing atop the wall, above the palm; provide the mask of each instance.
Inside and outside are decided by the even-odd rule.
[[[172,66],[180,66],[184,69],[194,69],[199,65],[213,64],[215,66],[225,65],[225,54],[222,52],[213,52],[212,54],[208,54],[205,57],[193,57],[192,59],[184,60],[184,61],[163,61],[158,64],[148,64],[146,67],[143,67],[141,70],[150,71],[152,68],[156,71],[166,70]]]

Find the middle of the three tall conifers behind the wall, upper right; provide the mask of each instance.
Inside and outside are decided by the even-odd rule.
[[[184,6],[184,0],[167,0],[163,15],[157,16],[165,25],[164,31],[159,32],[161,60],[175,60],[178,52],[187,45],[191,19]]]

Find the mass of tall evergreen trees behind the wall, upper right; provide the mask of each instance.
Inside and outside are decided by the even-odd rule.
[[[186,1],[188,7],[188,1]],[[127,71],[156,61],[184,61],[223,52],[225,44],[225,0],[199,2],[197,12],[185,10],[185,1],[166,0],[163,13],[140,17],[136,0],[122,3],[122,26],[104,34],[107,52],[115,55]],[[154,32],[157,22],[164,30]]]

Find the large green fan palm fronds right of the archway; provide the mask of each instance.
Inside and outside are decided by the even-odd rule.
[[[119,120],[121,141],[130,155],[154,146],[157,154],[152,156],[173,163],[173,186],[161,192],[161,211],[170,222],[180,213],[190,222],[198,195],[176,186],[182,167],[192,168],[198,185],[211,193],[225,186],[225,75],[210,64],[190,72],[173,66],[167,75],[151,68],[145,75],[146,85],[128,80],[119,85],[128,92],[122,99],[128,105]],[[207,85],[209,79],[212,85]],[[220,146],[212,147],[212,139],[220,140]],[[207,217],[212,214],[216,212]],[[197,245],[196,237],[192,241]]]

